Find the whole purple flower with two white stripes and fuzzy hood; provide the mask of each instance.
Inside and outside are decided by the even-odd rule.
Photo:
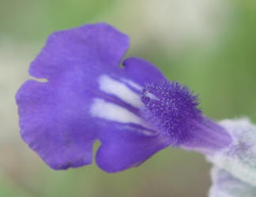
[[[172,146],[214,154],[231,138],[198,110],[197,96],[149,62],[108,24],[53,33],[17,92],[21,136],[53,169],[92,162],[117,172]]]

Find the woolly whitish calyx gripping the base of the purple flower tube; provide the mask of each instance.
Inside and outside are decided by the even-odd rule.
[[[232,136],[232,143],[208,155],[209,162],[256,187],[256,125],[247,118],[224,120],[220,125]]]

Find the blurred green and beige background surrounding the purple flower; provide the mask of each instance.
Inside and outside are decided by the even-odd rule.
[[[0,196],[205,197],[210,165],[197,153],[167,148],[115,174],[54,171],[21,141],[13,98],[29,63],[51,32],[97,21],[130,35],[127,56],[191,87],[207,116],[256,122],[253,0],[0,0]]]

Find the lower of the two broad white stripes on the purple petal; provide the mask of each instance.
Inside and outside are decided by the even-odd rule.
[[[107,121],[118,121],[120,123],[134,123],[141,125],[141,118],[137,117],[129,110],[115,105],[111,102],[105,102],[104,99],[94,99],[90,113],[93,117],[104,118]]]

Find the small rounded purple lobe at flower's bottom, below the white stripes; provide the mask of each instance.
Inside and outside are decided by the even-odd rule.
[[[101,141],[102,145],[96,154],[97,165],[109,173],[115,173],[140,165],[152,154],[171,144],[168,136],[150,135],[150,132],[145,135],[146,131],[143,128],[140,130],[137,132],[129,126],[112,127]]]

